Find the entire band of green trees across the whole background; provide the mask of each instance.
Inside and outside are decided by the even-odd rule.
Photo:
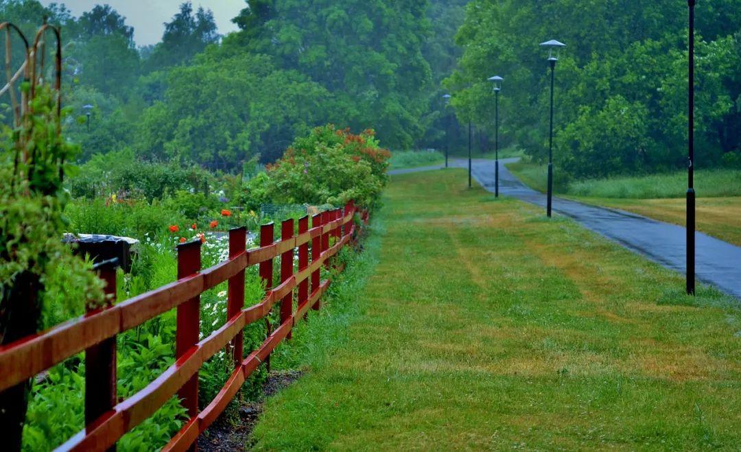
[[[65,99],[78,119],[67,135],[82,159],[130,148],[236,170],[258,154],[275,161],[294,135],[327,122],[373,127],[392,149],[444,147],[445,130],[455,146],[465,134],[453,114],[491,135],[495,74],[506,79],[503,144],[543,159],[548,65],[538,44],[559,39],[563,170],[685,164],[687,17],[676,0],[249,0],[233,19],[240,31],[223,39],[210,10],[187,1],[173,13],[162,41],[137,49],[110,6],[76,19],[63,6],[0,0],[2,18],[28,34],[44,16],[63,25]],[[737,0],[698,6],[700,166],[741,162],[740,23]]]

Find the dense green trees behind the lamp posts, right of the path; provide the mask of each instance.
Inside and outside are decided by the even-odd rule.
[[[547,159],[548,64],[539,42],[568,45],[556,68],[556,165],[604,177],[686,167],[687,4],[678,0],[473,0],[445,83],[458,116],[491,130],[504,76],[505,140]],[[741,3],[697,6],[697,166],[741,166]]]

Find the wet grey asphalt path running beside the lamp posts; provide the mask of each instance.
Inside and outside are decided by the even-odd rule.
[[[539,205],[545,210],[545,194],[533,190],[519,182],[507,170],[505,164],[517,159],[499,161],[499,194],[511,196]],[[453,167],[468,167],[467,160],[451,161]],[[437,170],[439,166],[411,168],[389,171],[390,174],[416,173]],[[473,161],[473,177],[486,190],[494,192],[494,161],[476,159]],[[700,201],[701,202],[701,201]],[[664,267],[685,273],[685,228],[659,222],[645,216],[585,205],[580,202],[554,197],[553,210],[571,217],[588,229],[618,242],[636,253],[648,257]],[[545,213],[545,212],[544,212]],[[741,299],[741,247],[715,239],[704,233],[697,233],[697,278],[716,286],[725,293]]]

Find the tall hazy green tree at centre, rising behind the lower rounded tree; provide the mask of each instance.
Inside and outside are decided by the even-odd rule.
[[[273,56],[333,93],[330,121],[376,127],[392,147],[411,147],[424,133],[431,70],[422,54],[427,1],[250,1],[225,46]]]

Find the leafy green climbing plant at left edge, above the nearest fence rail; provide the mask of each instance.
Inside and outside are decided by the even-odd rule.
[[[27,86],[24,89],[27,90]],[[70,287],[85,288],[77,302],[102,299],[101,284],[89,265],[72,256],[60,237],[62,210],[68,202],[62,174],[76,147],[56,133],[54,96],[45,87],[36,92],[31,111],[19,130],[0,131],[0,293],[3,303],[21,273],[41,277],[56,266],[67,267]],[[43,290],[42,290],[43,292]],[[73,302],[70,300],[70,302]],[[0,325],[1,329],[7,325]],[[1,335],[0,335],[1,338]]]

